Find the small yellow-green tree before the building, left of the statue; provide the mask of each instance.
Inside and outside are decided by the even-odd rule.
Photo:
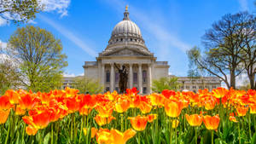
[[[99,81],[84,76],[74,79],[73,88],[79,89],[81,94],[98,94],[103,91],[103,86]]]

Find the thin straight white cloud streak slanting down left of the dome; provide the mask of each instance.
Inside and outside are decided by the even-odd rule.
[[[67,39],[72,41],[79,48],[83,49],[84,52],[86,52],[90,56],[92,57],[97,56],[96,51],[94,49],[91,49],[88,44],[84,43],[84,39],[80,39],[73,32],[68,31],[67,28],[59,25],[58,23],[55,23],[55,21],[50,20],[49,18],[43,16],[42,14],[38,14],[38,18],[40,18],[41,20],[44,20],[46,23],[49,24],[49,26],[54,27],[56,31],[60,32],[64,37],[67,37]]]

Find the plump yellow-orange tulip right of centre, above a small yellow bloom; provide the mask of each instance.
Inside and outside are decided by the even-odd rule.
[[[165,111],[166,115],[172,118],[177,118],[180,115],[183,106],[179,101],[166,101]]]

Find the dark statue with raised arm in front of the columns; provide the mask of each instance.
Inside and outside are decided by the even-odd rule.
[[[113,64],[119,70],[119,93],[124,94],[127,89],[128,73],[125,66],[120,69],[115,63]]]

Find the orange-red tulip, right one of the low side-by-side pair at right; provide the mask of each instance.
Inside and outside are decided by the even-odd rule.
[[[217,130],[218,129],[218,124],[219,124],[220,118],[218,115],[216,116],[204,116],[203,117],[203,122],[207,127],[207,130]]]

